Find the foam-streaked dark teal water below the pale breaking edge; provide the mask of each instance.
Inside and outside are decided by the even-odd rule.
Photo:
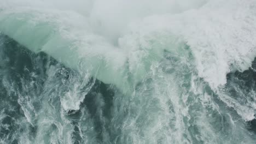
[[[82,76],[44,53],[33,54],[4,35],[1,41],[2,143],[252,143],[255,140],[255,122],[243,121],[205,82],[196,80],[203,94],[188,90],[191,73],[176,77],[183,79],[181,99],[177,102],[181,108],[177,113],[177,105],[172,102],[176,98],[162,102],[151,94],[155,83],[152,78],[137,86],[139,95],[140,91],[143,93],[141,98],[127,97],[114,86],[91,79],[90,91],[79,110],[65,111],[61,107],[65,94],[75,91],[84,95],[88,87],[82,85]],[[174,73],[164,69],[167,74]],[[187,71],[181,71],[184,72]],[[81,87],[74,88],[77,83]],[[230,99],[248,105],[254,102],[254,85],[253,65],[243,73],[228,74],[223,89]],[[157,91],[161,92],[161,88]],[[167,113],[163,113],[166,105]],[[188,113],[184,115],[182,109],[188,109]],[[150,131],[154,126],[160,127],[160,131]],[[172,133],[166,135],[168,131]],[[147,137],[148,133],[153,133],[152,137]],[[176,139],[170,139],[172,135]],[[152,138],[157,141],[148,141]]]

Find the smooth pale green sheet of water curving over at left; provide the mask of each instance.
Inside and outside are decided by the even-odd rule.
[[[62,15],[66,17],[60,17]],[[127,53],[94,34],[83,18],[75,13],[51,10],[7,10],[0,14],[0,31],[34,53],[44,52],[66,67],[79,72],[89,71],[96,79],[115,85],[125,94],[132,94],[149,68],[141,72],[139,68],[132,70]],[[143,51],[149,52],[148,57],[153,61],[160,61],[164,50],[152,47]],[[151,63],[150,59],[146,61]]]

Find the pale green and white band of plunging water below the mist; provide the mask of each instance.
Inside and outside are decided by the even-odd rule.
[[[241,3],[236,7],[225,2],[219,7],[218,3],[209,1],[198,9],[179,14],[146,16],[129,22],[124,28],[125,33],[118,38],[118,45],[113,45],[106,35],[94,32],[95,23],[91,23],[91,17],[43,7],[3,10],[0,31],[33,52],[48,53],[69,68],[78,71],[91,68],[98,80],[112,83],[124,92],[133,91],[136,83],[147,74],[149,68],[145,63],[150,65],[150,59],[147,62],[143,59],[159,61],[161,53],[166,50],[166,47],[150,47],[149,43],[155,35],[158,36],[154,32],[159,31],[166,38],[174,35],[190,46],[199,76],[217,91],[225,85],[226,74],[248,69],[256,56],[253,40],[256,28],[251,24],[254,22],[253,10],[248,8],[253,4],[253,1],[248,1],[248,4]],[[229,25],[226,21],[234,24]],[[159,45],[164,45],[162,43],[166,40],[161,40]],[[176,45],[175,40],[173,38],[173,45]],[[241,46],[245,48],[242,50]],[[151,56],[143,58],[143,55]],[[123,77],[130,80],[124,81]]]

